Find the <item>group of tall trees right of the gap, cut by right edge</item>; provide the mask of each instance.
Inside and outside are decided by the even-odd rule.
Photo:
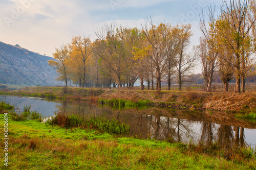
[[[204,14],[200,29],[203,36],[198,46],[198,55],[203,65],[203,76],[207,90],[211,91],[214,73],[219,70],[228,90],[228,82],[236,77],[236,91],[245,92],[245,78],[255,66],[255,20],[254,0],[223,1],[220,15],[215,19],[215,7]]]

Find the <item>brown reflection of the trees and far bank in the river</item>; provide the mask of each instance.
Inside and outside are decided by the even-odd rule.
[[[211,123],[209,118],[204,119],[207,114],[202,116],[202,113],[195,114],[195,111],[184,113],[182,110],[159,108],[113,110],[109,107],[99,107],[97,104],[79,103],[74,105],[67,102],[62,102],[59,110],[67,114],[94,114],[117,119],[121,123],[130,125],[130,136],[142,139],[150,138],[183,143],[191,141],[204,144],[218,142],[220,147],[226,149],[233,145],[240,147],[246,145],[244,128]],[[190,115],[190,117],[184,117],[184,115]],[[199,115],[199,118],[195,115]],[[254,125],[252,124],[252,126]]]

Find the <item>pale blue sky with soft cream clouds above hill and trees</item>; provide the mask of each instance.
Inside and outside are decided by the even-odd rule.
[[[219,12],[222,0],[0,0],[0,41],[19,44],[29,51],[52,57],[55,48],[72,36],[90,36],[105,23],[137,27],[152,17],[156,23],[190,23],[197,45],[199,13],[210,4]]]

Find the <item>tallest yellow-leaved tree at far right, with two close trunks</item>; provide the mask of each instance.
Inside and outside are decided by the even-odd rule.
[[[252,29],[255,28],[256,18],[255,1],[253,0],[230,0],[229,4],[223,1],[221,16],[218,20],[218,29],[223,43],[232,49],[234,68],[236,68],[236,91],[245,92],[246,72],[254,65],[251,62],[253,52]],[[230,34],[226,34],[229,32]]]

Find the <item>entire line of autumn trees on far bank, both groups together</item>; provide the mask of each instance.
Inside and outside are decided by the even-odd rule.
[[[73,37],[71,43],[56,49],[53,57],[58,61],[49,64],[66,86],[70,81],[80,87],[133,87],[139,80],[141,90],[145,81],[148,89],[150,83],[154,89],[155,82],[161,90],[161,81],[166,80],[169,90],[176,79],[181,90],[201,58],[208,91],[218,70],[226,90],[234,74],[237,92],[245,92],[247,72],[255,65],[255,14],[254,0],[224,1],[217,19],[215,7],[209,7],[207,15],[201,15],[202,37],[194,49],[189,48],[190,25],[154,24],[146,18],[139,30],[110,23],[95,32],[94,42]]]

